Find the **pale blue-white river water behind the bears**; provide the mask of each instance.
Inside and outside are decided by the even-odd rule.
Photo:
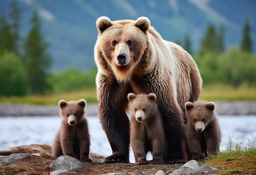
[[[87,116],[91,136],[90,150],[108,156],[112,150],[96,116]],[[256,116],[218,116],[222,132],[220,149],[225,150],[229,137],[233,142],[256,145]],[[61,116],[0,117],[0,150],[28,144],[52,143]],[[150,159],[150,156],[149,156]],[[134,162],[132,151],[130,162]]]

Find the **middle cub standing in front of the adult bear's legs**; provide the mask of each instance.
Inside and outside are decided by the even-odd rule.
[[[130,121],[130,143],[135,156],[135,164],[147,164],[146,155],[150,151],[154,164],[166,163],[167,142],[164,136],[161,115],[155,94],[128,94],[128,108],[132,112]]]

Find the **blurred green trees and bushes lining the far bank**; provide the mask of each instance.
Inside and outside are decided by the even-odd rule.
[[[88,72],[69,69],[50,72],[52,57],[49,43],[41,33],[38,13],[30,19],[31,28],[20,36],[20,9],[16,0],[10,3],[10,12],[0,14],[0,96],[53,94],[82,88],[95,88],[97,68]],[[241,26],[240,46],[225,48],[225,26],[219,29],[209,24],[202,35],[200,49],[192,53],[189,35],[184,42],[177,40],[198,64],[204,85],[225,84],[256,86],[256,55],[252,50],[251,27],[245,19]]]

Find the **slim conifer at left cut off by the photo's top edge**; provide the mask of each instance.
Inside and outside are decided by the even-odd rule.
[[[19,53],[18,50],[19,50],[19,44],[20,44],[19,43],[20,8],[18,7],[17,0],[12,0],[10,5],[11,5],[11,11],[9,13],[9,17],[11,19],[10,27],[11,27],[11,33],[13,35],[14,52]]]

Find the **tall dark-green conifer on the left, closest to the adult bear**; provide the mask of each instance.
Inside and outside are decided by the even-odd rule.
[[[50,88],[47,82],[51,57],[47,54],[49,44],[41,35],[41,25],[36,12],[31,18],[31,30],[24,42],[23,61],[27,70],[31,94],[43,94]]]

